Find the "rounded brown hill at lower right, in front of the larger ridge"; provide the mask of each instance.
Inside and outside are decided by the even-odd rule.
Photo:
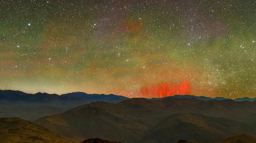
[[[142,142],[177,142],[179,139],[215,142],[234,134],[253,133],[244,123],[193,113],[165,117],[150,127]]]

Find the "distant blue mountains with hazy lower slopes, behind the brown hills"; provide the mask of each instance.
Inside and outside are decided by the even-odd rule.
[[[165,98],[196,98],[202,100],[226,100],[223,97],[198,97],[190,95],[175,95]],[[26,94],[21,91],[0,90],[0,117],[20,117],[21,119],[34,121],[39,117],[59,114],[71,110],[83,104],[92,102],[117,103],[129,99],[117,95],[86,94],[84,92],[73,92],[69,94],[57,95],[38,92],[37,94]],[[159,100],[161,98],[152,98]],[[238,98],[235,101],[251,101],[256,98]]]

